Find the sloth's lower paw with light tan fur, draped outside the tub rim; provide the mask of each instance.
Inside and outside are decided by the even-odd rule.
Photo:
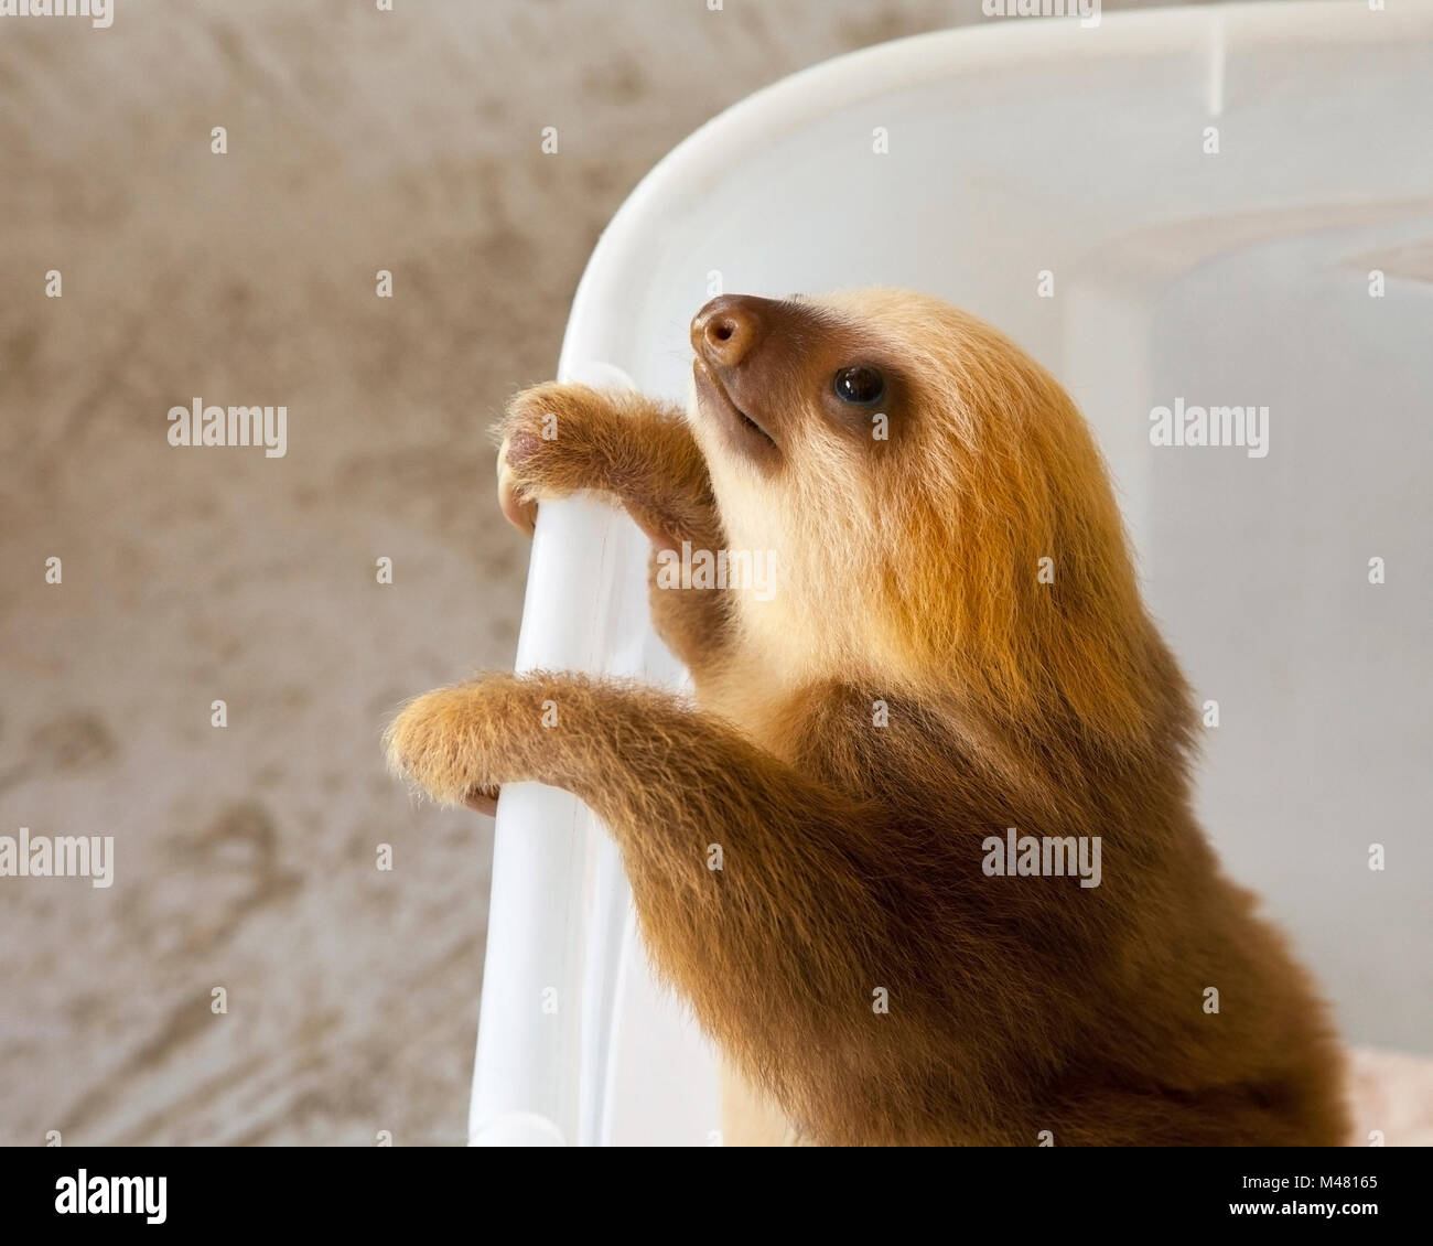
[[[384,737],[394,773],[440,804],[492,812],[499,784],[500,733],[492,713],[497,683],[459,684],[408,701]]]

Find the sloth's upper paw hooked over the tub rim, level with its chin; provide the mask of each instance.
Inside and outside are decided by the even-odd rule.
[[[585,413],[600,396],[586,386],[547,381],[523,390],[497,424],[497,502],[507,522],[532,535],[537,503],[595,485]]]

